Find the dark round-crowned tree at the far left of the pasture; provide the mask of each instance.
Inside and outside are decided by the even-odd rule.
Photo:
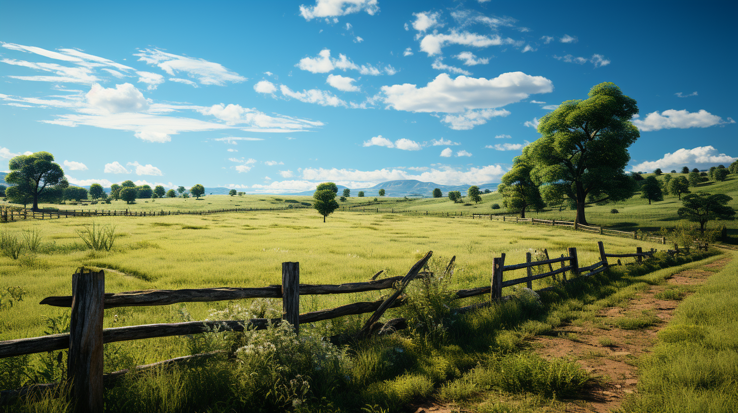
[[[18,187],[13,192],[20,191],[30,196],[34,211],[38,211],[39,197],[55,192],[58,190],[56,186],[66,182],[64,171],[48,152],[15,156],[8,162],[8,167],[10,173],[5,176],[5,181]]]

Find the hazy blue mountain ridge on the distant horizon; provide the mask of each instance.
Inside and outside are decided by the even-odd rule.
[[[481,191],[484,190],[490,190],[494,191],[497,190],[498,184],[479,184],[477,187]],[[351,190],[351,196],[358,195],[359,191],[364,191],[365,196],[377,196],[379,190],[384,190],[385,196],[391,196],[391,197],[432,197],[433,196],[433,190],[435,188],[438,188],[441,190],[441,192],[444,193],[444,196],[449,193],[449,191],[459,191],[462,194],[466,194],[466,190],[469,190],[469,187],[472,185],[469,184],[461,184],[461,185],[441,185],[436,184],[435,182],[423,182],[418,181],[415,179],[399,179],[396,181],[387,181],[382,182],[381,184],[376,184],[373,187],[369,188],[349,188]],[[342,191],[346,188],[343,185],[337,185],[338,187],[338,195],[341,195]],[[291,194],[283,194],[283,195],[313,195],[313,192],[315,191],[303,191],[303,192],[297,192],[297,193],[291,193]]]

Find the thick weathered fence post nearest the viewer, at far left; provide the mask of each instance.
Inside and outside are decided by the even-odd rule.
[[[72,275],[72,316],[69,322],[69,355],[66,377],[72,381],[76,413],[103,411],[103,306],[105,274]]]

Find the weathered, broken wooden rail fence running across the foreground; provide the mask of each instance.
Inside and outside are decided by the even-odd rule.
[[[548,250],[544,250],[546,259],[531,261],[531,253],[526,254],[526,262],[519,264],[505,263],[505,254],[494,257],[491,282],[489,285],[477,288],[453,291],[455,299],[465,299],[472,296],[489,294],[490,299],[466,307],[456,308],[455,313],[464,313],[476,308],[492,305],[493,302],[511,299],[511,296],[503,296],[503,288],[525,283],[527,288],[532,288],[534,280],[552,277],[554,281],[565,284],[576,281],[582,277],[590,277],[605,271],[611,264],[608,258],[634,257],[638,261],[652,257],[655,250],[642,251],[638,247],[634,254],[607,254],[603,243],[598,242],[600,261],[592,265],[580,266],[576,248],[569,248],[568,255],[561,257],[548,257]],[[689,251],[689,250],[687,250]],[[669,250],[668,254],[684,252]],[[105,292],[104,270],[92,271],[79,268],[72,276],[72,296],[49,296],[41,300],[41,304],[55,307],[71,308],[71,322],[69,333],[53,334],[49,336],[32,337],[29,339],[15,339],[0,341],[0,358],[27,355],[32,353],[44,353],[55,350],[69,349],[67,356],[67,383],[72,387],[65,387],[67,383],[44,383],[24,386],[20,389],[3,390],[0,392],[0,406],[15,403],[18,398],[44,393],[50,397],[61,397],[62,394],[72,398],[75,412],[101,412],[103,410],[103,391],[105,386],[110,386],[118,378],[132,372],[168,364],[182,364],[193,359],[210,358],[214,355],[224,353],[204,353],[187,355],[170,360],[159,361],[154,364],[139,366],[132,371],[128,369],[105,374],[103,371],[103,344],[117,341],[128,341],[138,339],[153,339],[168,336],[185,336],[212,331],[244,331],[263,330],[269,324],[279,323],[282,320],[294,326],[297,333],[300,324],[308,324],[328,319],[336,319],[341,316],[359,315],[371,313],[355,339],[365,339],[373,335],[387,335],[407,327],[405,319],[391,319],[386,323],[379,322],[384,312],[389,308],[404,305],[404,290],[415,278],[434,277],[428,271],[421,271],[430,257],[429,251],[421,260],[410,268],[404,276],[387,277],[376,280],[382,274],[379,271],[368,282],[350,282],[340,285],[313,285],[300,284],[300,263],[282,263],[282,284],[269,285],[261,288],[190,288],[182,290],[146,290],[128,291],[123,293]],[[446,266],[444,274],[452,271],[455,257],[452,257]],[[559,268],[554,269],[554,264]],[[618,260],[617,265],[620,265]],[[533,274],[533,267],[548,265],[547,272]],[[514,280],[504,280],[506,271],[514,271],[525,268],[525,277]],[[545,267],[544,267],[545,268]],[[568,280],[567,273],[571,274]],[[560,276],[560,279],[557,278]],[[354,302],[337,308],[317,310],[308,313],[299,313],[300,296],[316,294],[350,294],[363,291],[379,291],[394,289],[393,293],[384,299],[374,302]],[[539,289],[547,291],[554,287]],[[103,310],[116,307],[138,307],[150,305],[171,305],[180,302],[214,302],[249,298],[281,298],[283,315],[281,319],[246,319],[246,320],[212,320],[178,323],[144,324],[128,327],[112,327],[103,329]],[[63,389],[69,389],[64,392]]]

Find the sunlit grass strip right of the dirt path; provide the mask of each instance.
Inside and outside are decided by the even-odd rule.
[[[727,253],[733,260],[685,299],[659,333],[626,412],[735,412],[738,253]]]

